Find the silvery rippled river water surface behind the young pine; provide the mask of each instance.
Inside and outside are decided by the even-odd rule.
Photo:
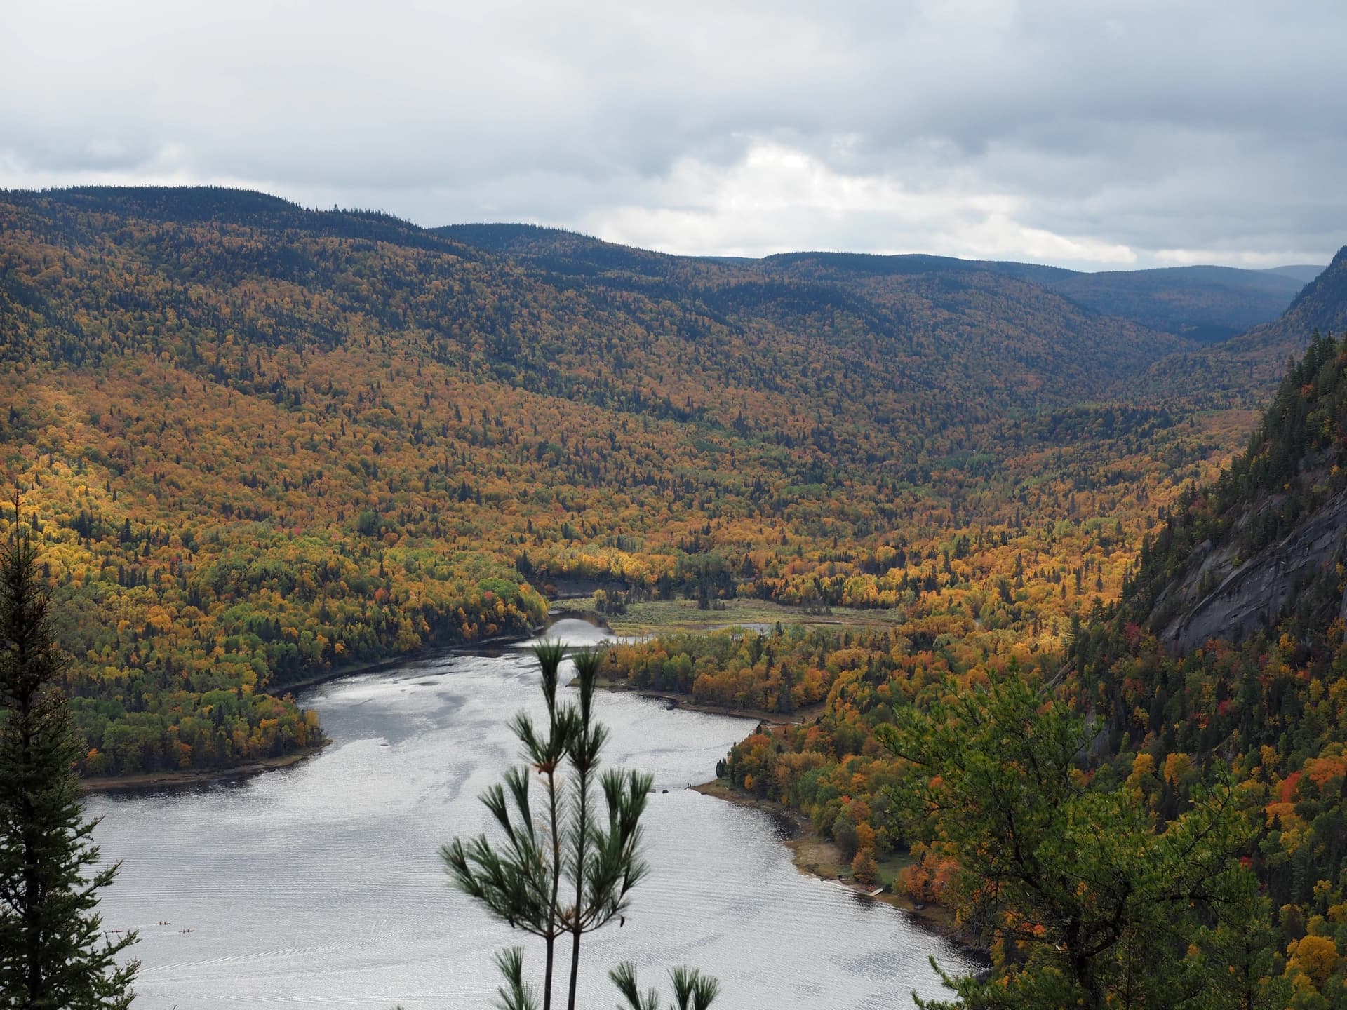
[[[602,637],[582,621],[551,634]],[[304,703],[334,742],[300,765],[90,801],[105,858],[124,861],[105,927],[141,931],[137,1010],[478,1010],[494,998],[492,952],[515,943],[536,975],[536,943],[453,891],[435,855],[485,828],[475,796],[517,760],[506,719],[540,715],[528,653],[443,656]],[[744,720],[625,694],[598,704],[609,761],[655,776],[653,871],[626,925],[586,939],[582,1006],[616,1003],[605,971],[624,959],[648,984],[682,963],[719,976],[725,1010],[911,1006],[913,988],[938,991],[928,955],[966,963],[901,912],[796,873],[770,816],[684,789]]]

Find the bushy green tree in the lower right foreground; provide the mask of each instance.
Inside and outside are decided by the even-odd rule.
[[[1083,785],[1084,720],[1018,672],[950,685],[878,737],[912,762],[890,790],[908,836],[958,861],[955,905],[995,955],[991,979],[946,978],[962,1005],[1199,1006],[1192,949],[1212,924],[1228,937],[1266,918],[1247,900],[1238,856],[1254,828],[1230,784],[1195,788],[1158,828],[1125,790]]]

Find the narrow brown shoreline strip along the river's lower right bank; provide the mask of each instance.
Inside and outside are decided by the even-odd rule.
[[[733,803],[737,807],[752,807],[756,811],[762,811],[779,824],[787,826],[789,828],[789,838],[783,839],[783,843],[791,850],[791,862],[795,863],[795,869],[800,873],[816,877],[820,881],[835,881],[857,894],[862,894],[873,901],[882,901],[885,905],[905,912],[921,929],[935,933],[943,940],[948,940],[963,951],[979,957],[990,956],[990,952],[985,947],[955,924],[954,913],[944,905],[921,905],[901,894],[894,894],[892,890],[874,894],[874,887],[858,883],[850,877],[843,875],[843,871],[838,871],[838,867],[845,865],[842,850],[838,848],[836,843],[819,835],[810,819],[800,811],[785,807],[776,800],[752,796],[723,778],[713,778],[709,782],[687,788],[702,796]]]

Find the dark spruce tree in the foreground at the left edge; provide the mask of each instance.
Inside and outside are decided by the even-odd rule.
[[[119,865],[97,866],[84,819],[36,553],[16,500],[0,544],[0,1010],[117,1010],[139,967],[117,955],[136,936],[106,936],[98,916]]]

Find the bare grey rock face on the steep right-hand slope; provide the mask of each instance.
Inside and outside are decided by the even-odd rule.
[[[1188,575],[1156,601],[1153,614],[1172,614],[1157,629],[1160,641],[1188,652],[1210,638],[1238,641],[1272,625],[1305,587],[1336,576],[1332,570],[1347,540],[1347,492],[1309,514],[1294,531],[1241,562],[1230,545],[1202,544]],[[1200,587],[1218,579],[1215,588]],[[1176,611],[1177,607],[1177,611]],[[1347,595],[1339,607],[1347,617]]]

